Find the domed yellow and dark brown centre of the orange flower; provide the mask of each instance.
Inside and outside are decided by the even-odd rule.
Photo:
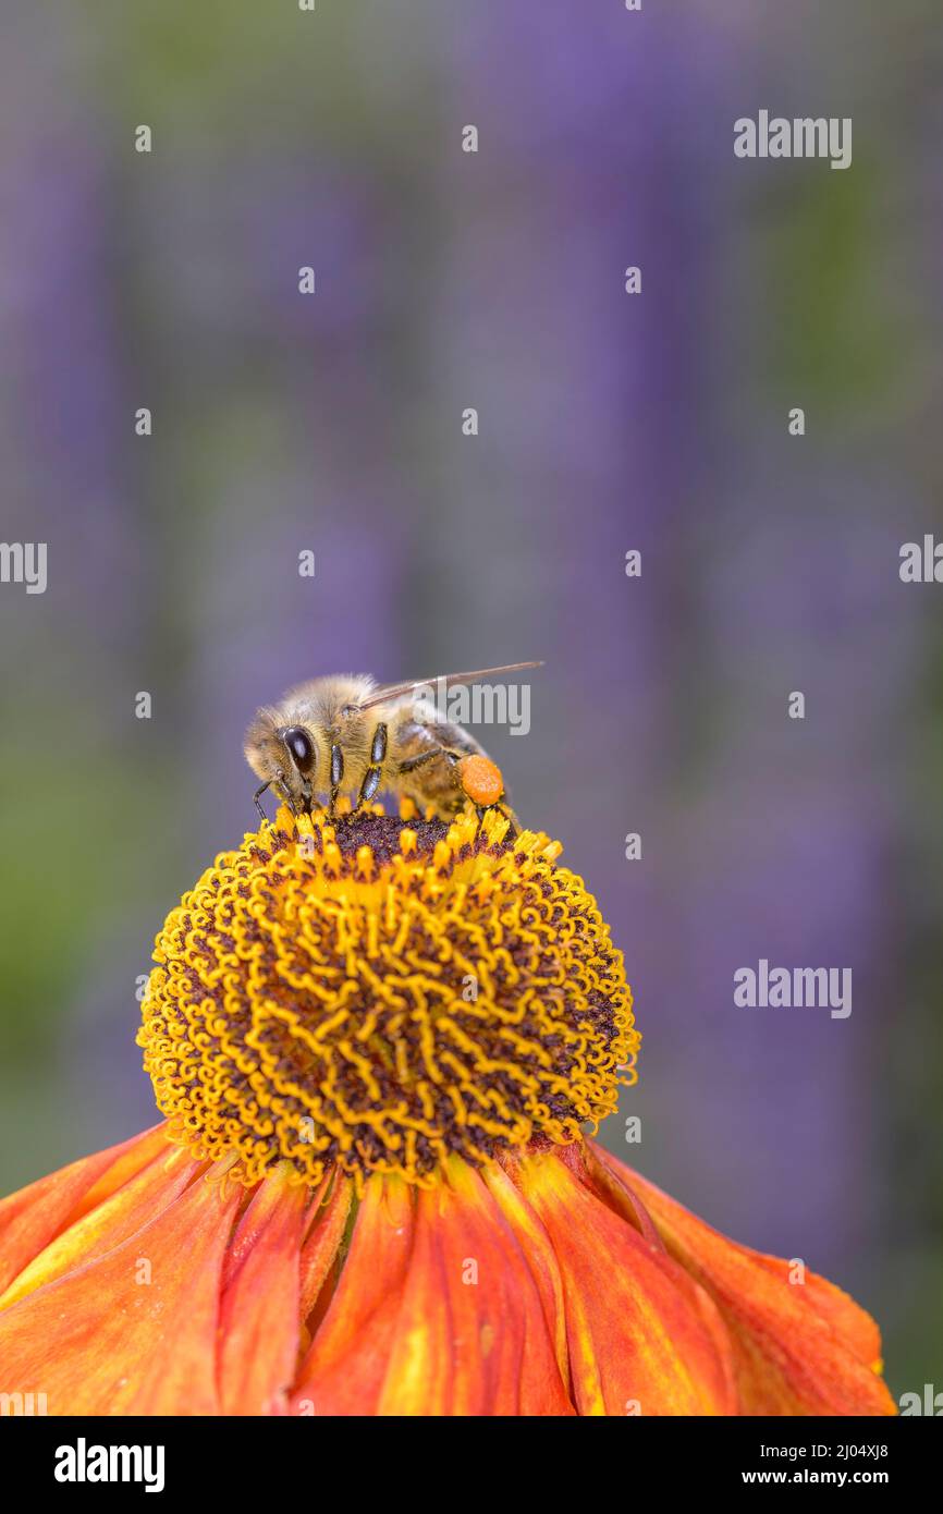
[[[274,827],[157,937],[138,1043],[173,1137],[253,1184],[279,1160],[424,1182],[578,1139],[634,1081],[622,954],[560,845],[489,812]]]

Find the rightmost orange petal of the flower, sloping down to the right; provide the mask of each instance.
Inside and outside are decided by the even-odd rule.
[[[878,1326],[854,1299],[814,1272],[790,1282],[789,1261],[728,1240],[604,1148],[589,1146],[640,1195],[669,1254],[717,1304],[734,1346],[743,1414],[896,1413],[876,1375]]]

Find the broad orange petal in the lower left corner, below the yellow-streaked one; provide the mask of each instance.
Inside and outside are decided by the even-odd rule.
[[[0,1391],[42,1391],[50,1414],[218,1414],[219,1279],[238,1202],[198,1179],[123,1245],[5,1310]]]

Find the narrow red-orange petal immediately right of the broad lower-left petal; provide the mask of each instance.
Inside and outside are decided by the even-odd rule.
[[[307,1188],[275,1170],[239,1220],[219,1305],[223,1414],[285,1414],[298,1357],[298,1261]]]

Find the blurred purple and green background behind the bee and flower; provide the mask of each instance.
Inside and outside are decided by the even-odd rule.
[[[898,554],[940,522],[943,26],[658,11],[14,5],[3,534],[48,589],[0,590],[0,1176],[153,1119],[138,978],[253,824],[256,704],[543,657],[530,734],[478,734],[625,951],[642,1142],[602,1139],[940,1387],[943,590]],[[763,106],[852,117],[852,168],[737,160]],[[852,1014],[736,1007],[763,957]]]

